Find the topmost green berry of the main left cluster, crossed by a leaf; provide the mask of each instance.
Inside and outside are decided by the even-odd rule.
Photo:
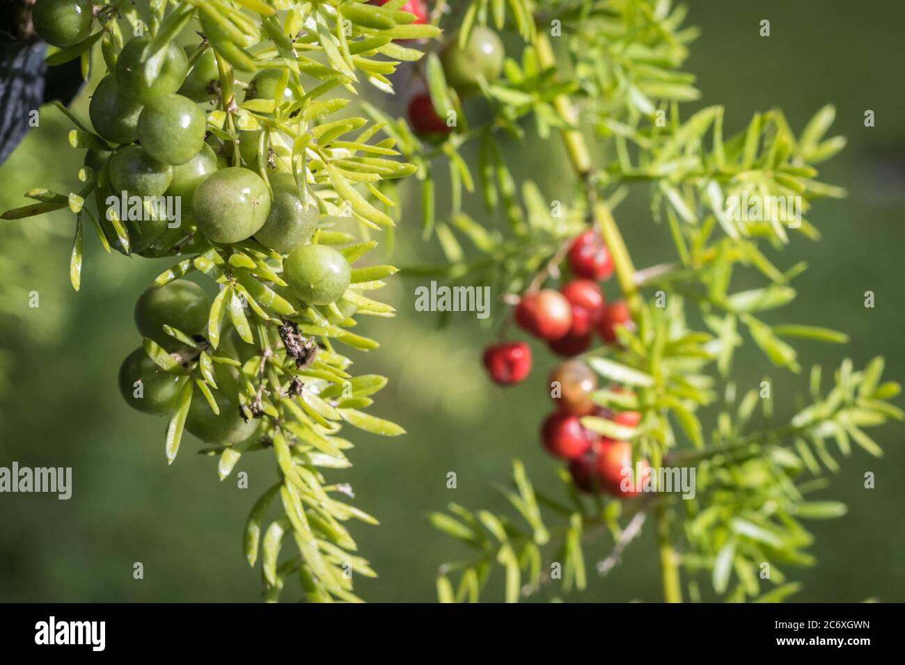
[[[150,37],[134,37],[119,53],[116,82],[119,90],[141,104],[176,92],[186,79],[186,53],[175,43],[142,62],[141,55]]]

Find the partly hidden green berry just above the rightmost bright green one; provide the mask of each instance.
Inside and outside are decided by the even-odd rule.
[[[290,173],[271,176],[271,214],[254,239],[271,250],[286,254],[301,244],[308,242],[318,228],[318,205],[309,195],[308,204],[303,204],[295,177]]]

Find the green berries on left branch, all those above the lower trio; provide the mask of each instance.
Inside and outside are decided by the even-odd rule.
[[[85,39],[92,19],[84,0],[37,0],[33,9],[35,29],[58,46]],[[148,36],[129,40],[90,97],[91,124],[112,149],[91,148],[85,166],[97,176],[95,201],[111,243],[118,243],[107,214],[111,195],[178,197],[176,224],[154,215],[126,220],[132,252],[166,255],[195,232],[221,244],[253,238],[290,255],[285,279],[301,299],[324,305],[340,298],[349,284],[347,261],[332,248],[306,244],[318,228],[317,196],[302,193],[280,167],[268,175],[268,188],[258,172],[260,130],[241,132],[238,158],[232,145],[208,135],[204,105],[220,85],[214,51],[190,63],[195,47],[169,43],[149,53],[149,43]],[[273,99],[280,78],[280,70],[258,71],[245,99]],[[295,100],[290,86],[283,100]]]

